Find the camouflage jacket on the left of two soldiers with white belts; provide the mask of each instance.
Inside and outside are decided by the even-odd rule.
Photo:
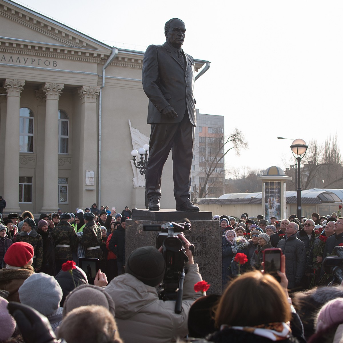
[[[79,245],[74,228],[67,221],[62,220],[51,230],[51,234],[55,241],[55,259],[72,260],[73,251],[76,252]],[[58,247],[58,245],[69,245],[69,247]]]

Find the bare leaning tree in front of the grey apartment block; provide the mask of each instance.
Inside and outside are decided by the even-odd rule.
[[[223,134],[214,134],[206,137],[207,145],[199,146],[199,192],[198,197],[203,198],[216,191],[222,193],[224,190],[225,166],[224,156],[234,150],[239,155],[240,149],[246,149],[247,142],[244,135],[237,128],[224,139]],[[221,191],[220,191],[221,190]]]

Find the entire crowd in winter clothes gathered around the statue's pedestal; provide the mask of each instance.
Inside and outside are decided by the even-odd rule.
[[[104,210],[3,218],[0,342],[343,340],[343,287],[337,275],[338,283],[327,287],[334,275],[321,268],[343,246],[343,218],[335,213],[270,222],[246,213],[237,222],[215,215],[223,233],[223,294],[217,295],[206,295],[210,285],[202,280],[192,244],[179,235],[188,262],[176,311],[173,299],[158,296],[165,256],[141,247],[126,257],[127,217]],[[272,247],[283,252],[280,282],[263,271],[263,251]],[[237,265],[239,253],[247,263]],[[94,285],[77,265],[80,255],[100,261]]]

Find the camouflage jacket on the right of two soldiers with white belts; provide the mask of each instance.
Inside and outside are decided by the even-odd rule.
[[[94,221],[88,222],[83,228],[83,235],[80,240],[82,246],[85,247],[85,257],[87,258],[98,258],[100,261],[104,259],[104,253],[100,248],[103,243],[101,230]],[[87,248],[92,248],[99,246],[97,249],[87,250]]]

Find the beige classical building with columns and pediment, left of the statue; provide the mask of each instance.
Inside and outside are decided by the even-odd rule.
[[[150,135],[143,55],[0,0],[5,213],[70,212],[93,203],[117,212],[126,205],[144,207],[144,187],[130,155]],[[196,71],[205,63],[196,60]],[[163,179],[171,177],[169,157]],[[162,191],[161,205],[175,208],[170,184]]]

